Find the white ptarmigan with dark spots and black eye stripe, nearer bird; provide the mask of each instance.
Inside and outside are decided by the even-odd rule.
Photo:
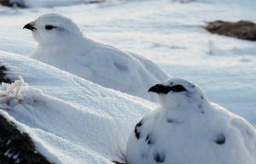
[[[253,126],[208,101],[183,79],[150,88],[161,108],[137,123],[127,143],[129,164],[255,164]]]

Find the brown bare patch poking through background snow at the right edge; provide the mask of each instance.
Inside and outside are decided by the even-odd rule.
[[[246,20],[238,22],[216,20],[209,22],[206,29],[213,34],[256,41],[256,24]]]

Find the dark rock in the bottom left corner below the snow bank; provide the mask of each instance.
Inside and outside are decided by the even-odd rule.
[[[0,163],[50,164],[36,149],[27,133],[0,115]]]

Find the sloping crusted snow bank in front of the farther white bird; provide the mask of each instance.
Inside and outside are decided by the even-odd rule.
[[[15,120],[55,163],[120,161],[133,125],[156,106],[26,57],[1,52],[0,60],[29,84],[2,101],[8,110],[1,114]]]

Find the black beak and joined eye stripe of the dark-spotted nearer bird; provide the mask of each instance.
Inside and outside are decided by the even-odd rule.
[[[154,92],[154,93],[169,93],[170,91],[174,93],[188,91],[186,88],[184,88],[182,85],[175,85],[175,86],[164,86],[162,84],[156,84],[152,88],[148,89],[148,92]]]

